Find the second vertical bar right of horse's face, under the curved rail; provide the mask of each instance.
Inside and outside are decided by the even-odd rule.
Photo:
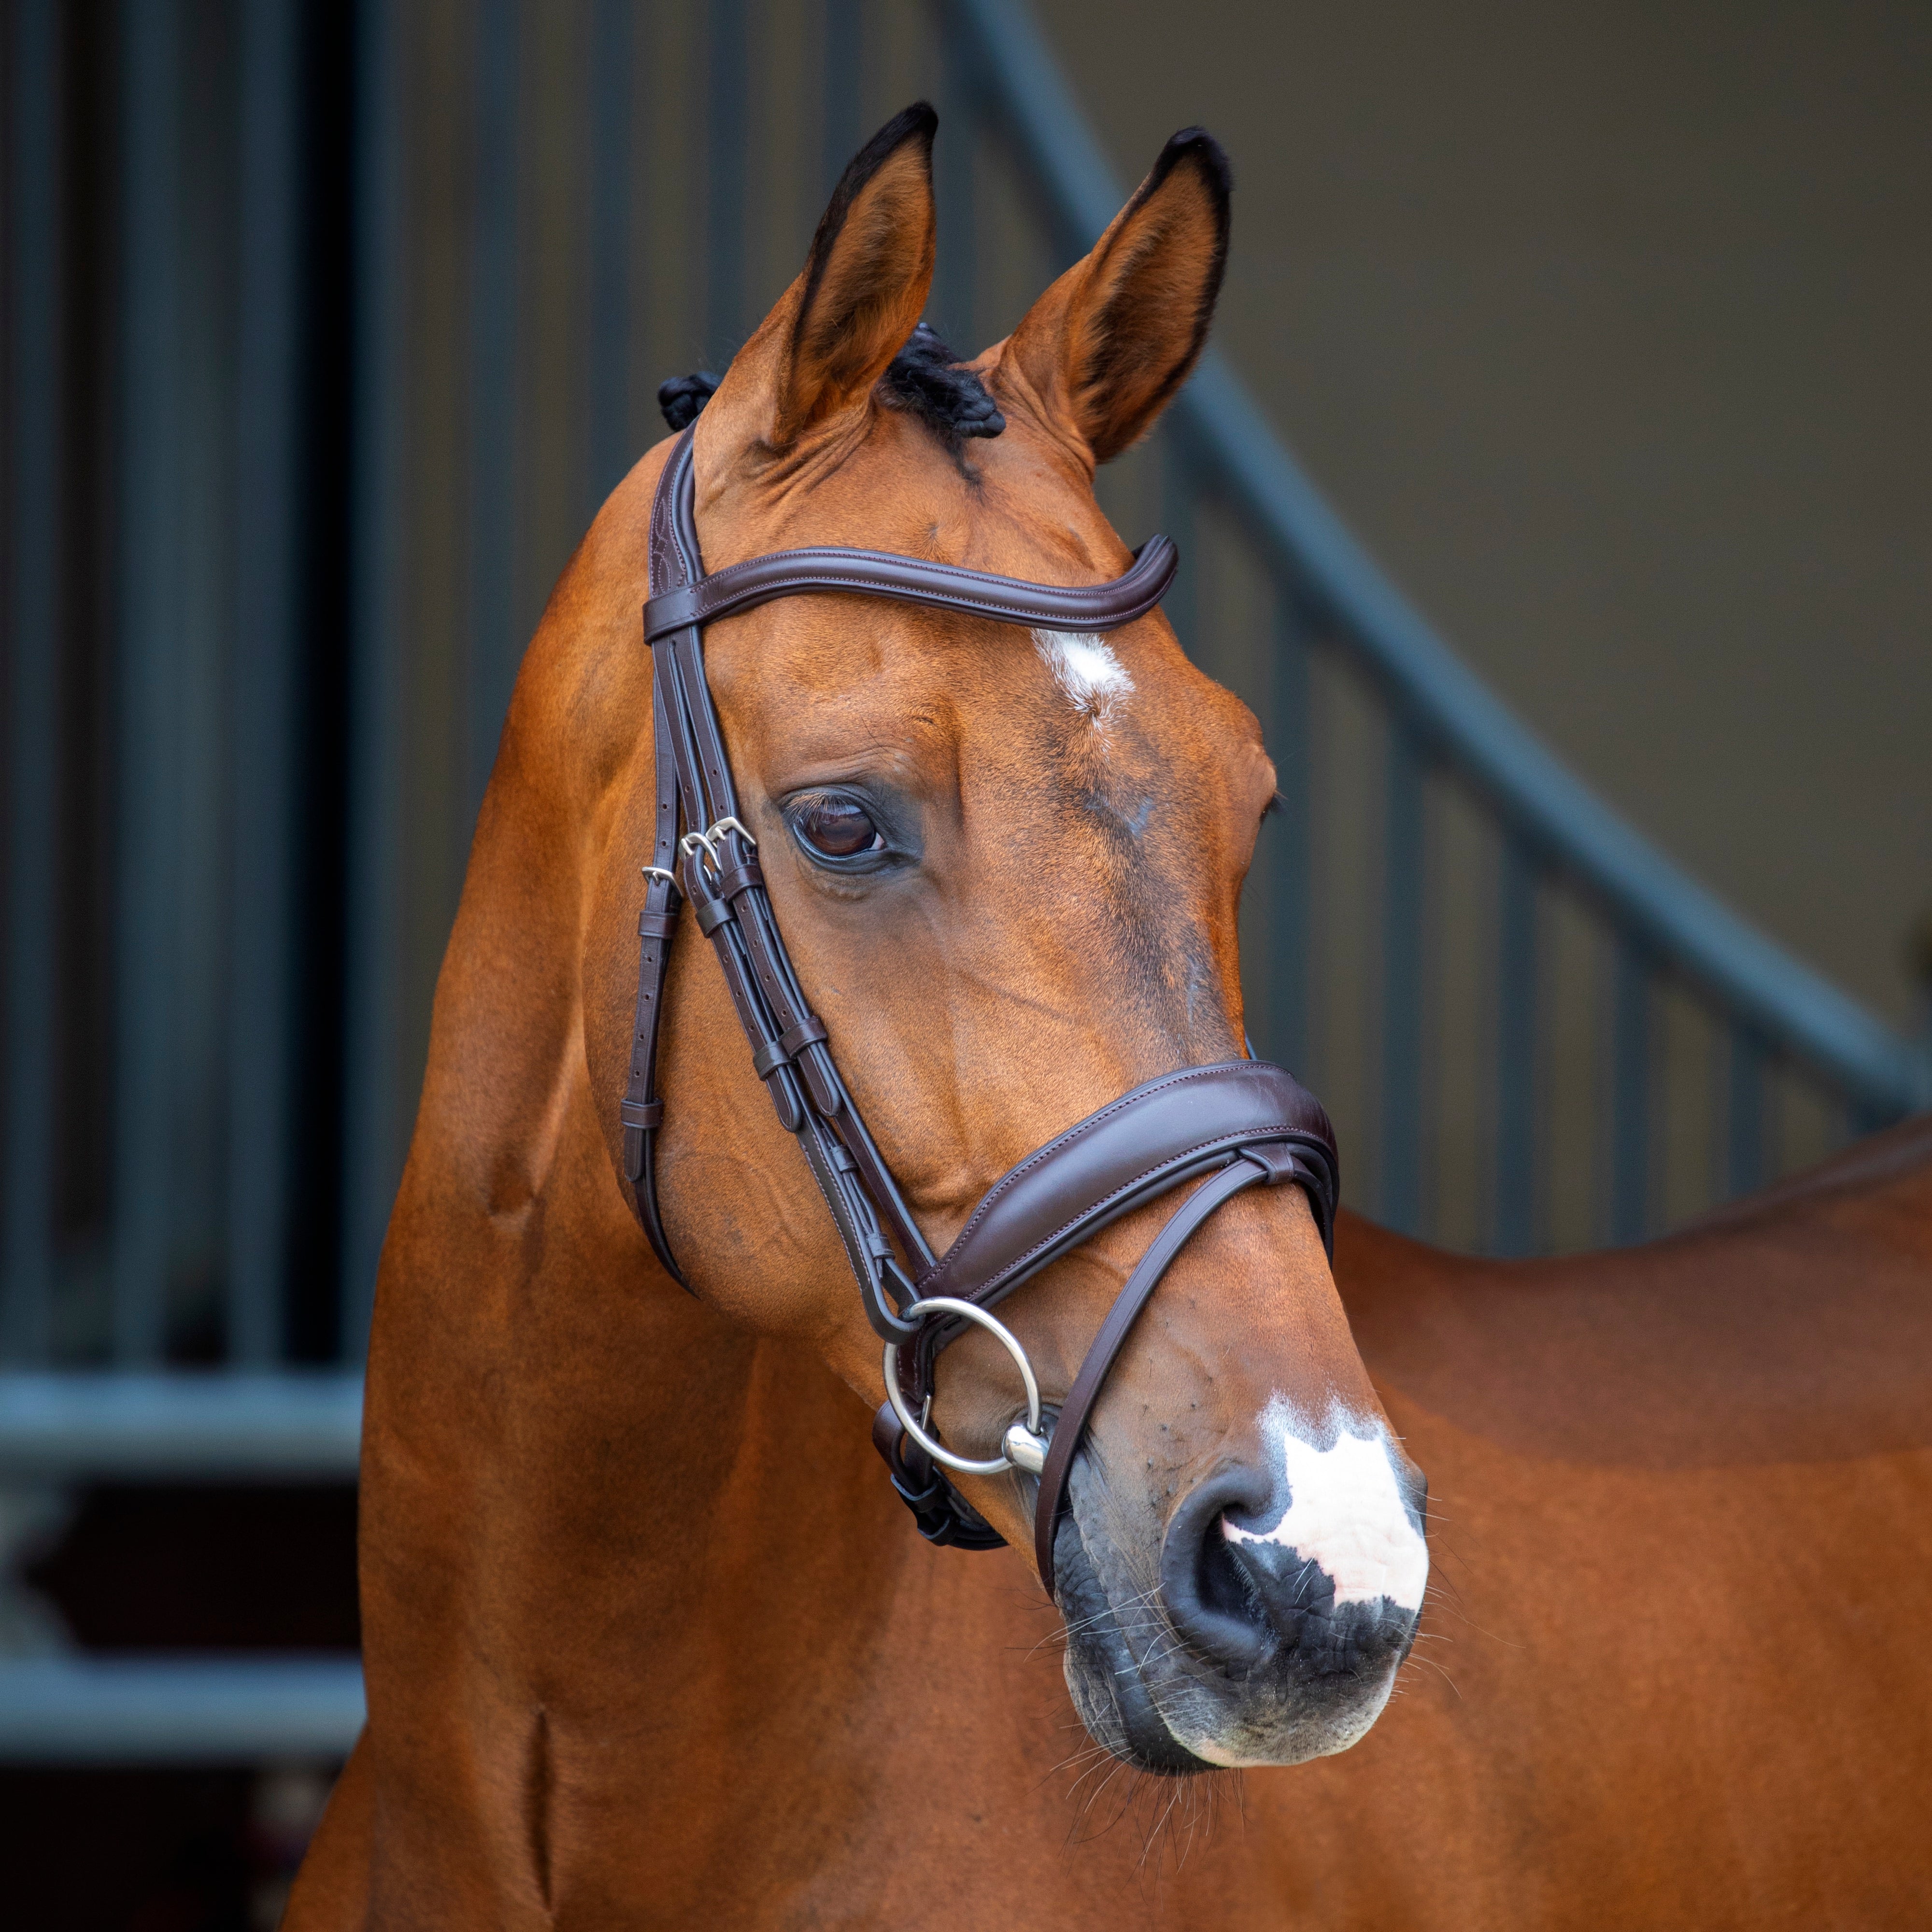
[[[1397,1233],[1422,1223],[1422,744],[1389,713],[1381,827],[1381,1132],[1376,1209]]]

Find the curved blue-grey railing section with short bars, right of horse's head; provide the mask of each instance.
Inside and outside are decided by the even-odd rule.
[[[951,19],[954,100],[1022,156],[1070,257],[1121,207],[1121,184],[1020,0],[954,0]],[[1244,624],[1246,643],[1200,609],[1177,614],[1194,653],[1256,705],[1285,773],[1289,810],[1244,947],[1254,1032],[1354,1128],[1352,1151],[1368,1155],[1360,1206],[1503,1254],[1636,1240],[1932,1105],[1932,1041],[1901,1037],[1756,931],[1551,757],[1343,527],[1219,355],[1173,415],[1153,493],[1163,518],[1196,533],[1223,520],[1262,580],[1246,609],[1215,612]],[[1198,580],[1196,599],[1204,591]],[[1379,726],[1366,732],[1379,798],[1350,798],[1321,771],[1320,659],[1354,680],[1356,709]],[[1354,908],[1354,933],[1323,935],[1323,918],[1347,914],[1316,904],[1302,854],[1320,848],[1323,819],[1350,811],[1372,896]],[[1488,864],[1464,862],[1461,881],[1439,850],[1453,813],[1488,844]],[[1488,900],[1488,931],[1461,935],[1478,960],[1474,972],[1464,962],[1461,1010],[1432,1001],[1453,885]],[[1578,951],[1596,954],[1582,972]],[[1323,966],[1374,989],[1341,1020],[1366,1036],[1366,1055],[1362,1037],[1337,1043],[1333,1022],[1321,1037]],[[1559,1037],[1559,1009],[1578,1005],[1596,1009],[1594,1024]],[[1445,1041],[1488,1066],[1455,1094],[1437,1078],[1432,1094]],[[1563,1055],[1586,1065],[1567,1068],[1573,1092],[1559,1103]],[[1461,1202],[1445,1200],[1443,1148],[1476,1122],[1488,1159],[1459,1177]],[[1567,1215],[1551,1153],[1565,1124],[1582,1142],[1563,1155],[1584,1209]]]

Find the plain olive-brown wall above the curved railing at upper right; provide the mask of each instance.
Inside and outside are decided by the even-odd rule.
[[[1037,0],[1219,342],[1466,661],[1897,1022],[1932,904],[1932,8]]]

